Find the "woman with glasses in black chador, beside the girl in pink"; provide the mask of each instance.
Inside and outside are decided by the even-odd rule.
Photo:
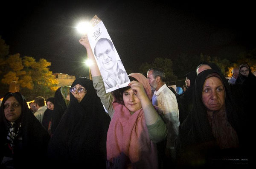
[[[105,168],[109,123],[93,82],[76,79],[70,88],[70,104],[49,142],[50,160],[58,166]]]

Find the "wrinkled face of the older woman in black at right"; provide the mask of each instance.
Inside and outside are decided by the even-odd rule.
[[[205,80],[202,98],[208,110],[220,110],[225,104],[225,90],[221,80],[212,76]]]

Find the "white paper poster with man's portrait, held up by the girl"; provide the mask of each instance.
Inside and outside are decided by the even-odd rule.
[[[130,80],[105,25],[96,15],[90,21],[92,31],[87,33],[106,93],[126,87]]]

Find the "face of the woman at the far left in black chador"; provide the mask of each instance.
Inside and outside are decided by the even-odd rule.
[[[16,121],[21,114],[21,105],[14,96],[9,97],[3,104],[4,116],[10,121]]]

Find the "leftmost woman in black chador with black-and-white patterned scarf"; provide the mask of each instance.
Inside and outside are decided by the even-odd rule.
[[[6,93],[0,115],[0,168],[44,166],[49,135],[19,93]]]

